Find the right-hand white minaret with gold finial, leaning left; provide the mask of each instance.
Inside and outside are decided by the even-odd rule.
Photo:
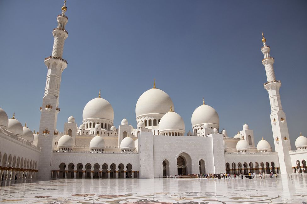
[[[267,82],[264,83],[264,89],[269,93],[270,105],[271,105],[271,125],[274,137],[275,151],[278,153],[280,173],[293,173],[290,154],[290,138],[286,120],[286,114],[281,107],[281,99],[279,94],[279,88],[281,82],[277,81],[274,73],[274,58],[270,56],[270,46],[266,45],[266,39],[262,33],[263,47],[261,52],[264,55],[262,64],[265,67]],[[271,165],[271,164],[270,164]]]

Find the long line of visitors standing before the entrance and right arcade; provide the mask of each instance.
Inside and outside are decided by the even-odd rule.
[[[267,174],[264,174],[264,172],[259,173],[257,176],[259,179],[265,179]],[[274,176],[277,179],[277,174],[270,172],[270,178],[273,179]],[[170,176],[163,176],[163,178],[203,178],[203,179],[256,179],[256,174],[255,172],[251,173],[246,173],[246,174],[225,174],[225,173],[220,173],[220,174],[186,174],[186,175],[170,175]],[[160,178],[160,175],[159,175]]]

